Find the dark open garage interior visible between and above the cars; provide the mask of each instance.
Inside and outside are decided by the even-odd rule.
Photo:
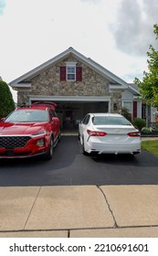
[[[57,102],[57,101],[56,101]],[[68,102],[58,101],[56,112],[61,122],[61,131],[77,131],[79,122],[88,112],[109,112],[109,101]]]

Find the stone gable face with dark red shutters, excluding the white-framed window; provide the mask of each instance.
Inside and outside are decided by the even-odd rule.
[[[67,63],[76,63],[76,80],[66,79]],[[81,75],[82,77],[80,78]],[[21,91],[21,89],[18,89],[18,91]],[[94,69],[90,69],[89,66],[70,56],[31,79],[31,95],[39,94],[49,96],[110,95],[109,81],[105,80]]]

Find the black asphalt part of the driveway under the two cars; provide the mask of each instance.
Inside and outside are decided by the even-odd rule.
[[[0,159],[0,187],[158,185],[158,157],[82,155],[78,136],[62,136],[53,158]]]

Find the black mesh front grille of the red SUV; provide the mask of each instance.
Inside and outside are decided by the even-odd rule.
[[[30,140],[29,136],[0,136],[0,147],[2,148],[15,148],[24,147],[27,141]]]

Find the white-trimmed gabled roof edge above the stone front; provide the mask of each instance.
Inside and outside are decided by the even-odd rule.
[[[13,88],[16,87],[17,84],[19,86],[19,83],[31,80],[32,78],[37,76],[39,73],[50,68],[52,65],[58,63],[62,59],[68,58],[69,55],[74,56],[75,59],[79,59],[79,61],[86,64],[91,69],[94,69],[96,72],[100,73],[101,76],[105,77],[107,80],[110,80],[111,84],[121,84],[122,87],[128,88],[128,83],[126,83],[124,80],[121,80],[121,78],[117,77],[110,70],[105,69],[96,61],[85,57],[84,55],[80,54],[79,51],[71,47],[61,52],[60,54],[58,54],[56,57],[49,59],[43,64],[37,66],[37,68],[26,72],[24,75],[18,77],[16,80],[12,80],[9,83],[9,85]]]

